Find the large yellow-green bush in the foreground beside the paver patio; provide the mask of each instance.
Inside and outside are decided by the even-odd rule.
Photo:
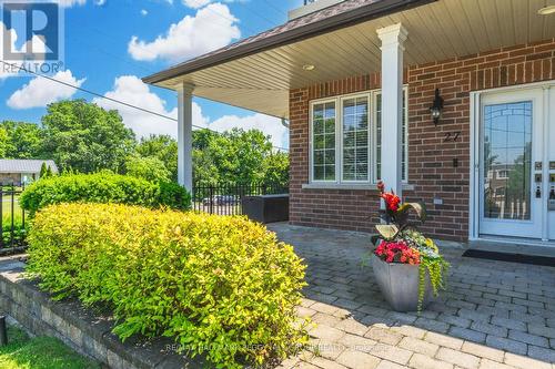
[[[246,218],[61,204],[37,213],[29,244],[29,276],[56,298],[111,307],[122,339],[173,337],[220,368],[305,342],[295,317],[305,267]]]

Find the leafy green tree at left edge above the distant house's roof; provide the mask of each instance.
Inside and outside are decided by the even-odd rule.
[[[42,155],[42,130],[34,123],[3,121],[0,131],[4,131],[6,140],[2,157],[40,158]],[[0,135],[2,135],[0,133]]]

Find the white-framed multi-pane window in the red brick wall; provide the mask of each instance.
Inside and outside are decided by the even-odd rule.
[[[381,175],[382,98],[371,91],[313,101],[311,183],[373,184]],[[403,181],[407,180],[406,89],[403,94]]]

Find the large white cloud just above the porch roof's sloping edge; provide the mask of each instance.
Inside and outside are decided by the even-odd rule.
[[[186,16],[179,23],[170,25],[164,35],[159,35],[152,42],[133,35],[128,51],[133,59],[141,61],[163,59],[175,62],[191,59],[239,39],[241,31],[238,21],[228,6],[211,3],[198,10],[194,17]]]

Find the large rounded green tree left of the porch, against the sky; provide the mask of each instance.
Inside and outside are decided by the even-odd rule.
[[[121,173],[134,148],[134,134],[117,111],[105,111],[84,100],[62,101],[48,106],[42,117],[43,155],[61,170]]]

